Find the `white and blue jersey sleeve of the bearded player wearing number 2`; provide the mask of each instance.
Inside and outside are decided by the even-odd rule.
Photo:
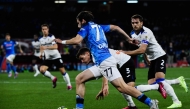
[[[141,44],[149,44],[150,41],[150,37],[151,37],[151,32],[143,32],[141,35],[142,41]]]

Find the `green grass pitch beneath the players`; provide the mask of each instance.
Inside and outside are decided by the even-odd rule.
[[[136,69],[136,85],[147,84],[147,68]],[[52,72],[57,76],[58,82],[55,89],[49,78],[41,74],[34,77],[34,73],[20,73],[18,78],[8,78],[6,73],[0,73],[0,109],[57,109],[65,106],[67,109],[75,107],[75,77],[80,71],[68,71],[73,85],[72,90],[66,89],[66,84],[61,74]],[[174,79],[184,76],[186,83],[190,85],[190,68],[168,68],[166,79]],[[86,83],[85,109],[122,109],[127,102],[121,94],[109,84],[109,95],[104,100],[96,100],[95,96],[101,89],[101,79]],[[190,109],[190,93],[179,85],[172,85],[179,100],[182,102],[181,109]],[[150,98],[159,100],[159,108],[172,104],[171,97],[163,99],[158,91],[145,92]],[[133,99],[139,109],[149,109],[145,104]]]

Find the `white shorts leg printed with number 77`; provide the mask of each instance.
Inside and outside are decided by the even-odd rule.
[[[119,70],[116,67],[116,60],[113,56],[107,58],[106,60],[104,60],[100,65],[100,72],[101,74],[110,82],[122,77]]]

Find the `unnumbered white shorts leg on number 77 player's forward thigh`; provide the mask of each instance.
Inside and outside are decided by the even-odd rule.
[[[94,75],[96,79],[99,79],[102,77],[102,74],[100,73],[100,68],[98,66],[93,65],[92,67],[88,69],[92,72],[92,74]]]

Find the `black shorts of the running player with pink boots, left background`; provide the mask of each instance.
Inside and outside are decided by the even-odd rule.
[[[64,67],[63,60],[61,58],[54,59],[54,60],[43,60],[42,65],[48,66],[49,68],[51,68],[52,65],[55,65],[57,68]]]

